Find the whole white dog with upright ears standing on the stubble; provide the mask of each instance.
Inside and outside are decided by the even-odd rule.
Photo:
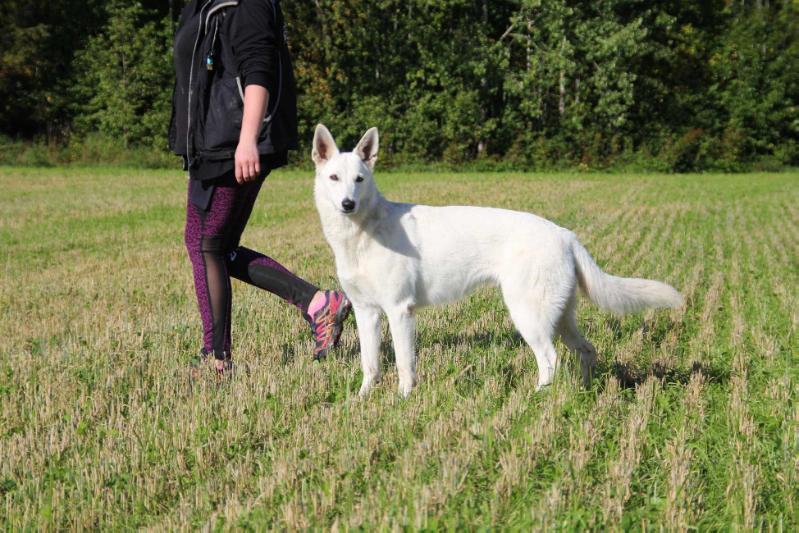
[[[457,300],[482,285],[502,291],[535,353],[538,388],[552,382],[558,365],[555,333],[579,354],[583,381],[590,385],[596,351],[577,329],[578,286],[599,307],[619,314],[681,305],[680,293],[665,283],[605,274],[574,233],[541,217],[387,201],[372,174],[377,150],[376,128],[352,152],[340,153],[327,128],[316,127],[316,208],[358,324],[361,396],[380,376],[381,311],[394,340],[399,390],[407,396],[416,384],[416,310]]]

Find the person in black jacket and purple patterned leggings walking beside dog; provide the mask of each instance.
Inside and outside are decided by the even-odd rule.
[[[297,147],[294,76],[277,0],[191,0],[173,58],[169,144],[189,175],[184,237],[203,325],[195,366],[208,364],[218,375],[232,368],[231,277],[298,307],[320,359],[338,343],[347,297],[239,243],[266,176]]]

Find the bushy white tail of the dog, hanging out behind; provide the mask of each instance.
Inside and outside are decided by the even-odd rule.
[[[683,303],[682,294],[666,283],[606,274],[576,238],[572,252],[580,288],[602,309],[623,315],[650,307],[679,307]]]

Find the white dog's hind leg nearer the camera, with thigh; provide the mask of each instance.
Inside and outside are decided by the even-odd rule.
[[[561,310],[546,303],[542,294],[530,294],[529,289],[522,292],[503,286],[502,295],[513,323],[535,354],[538,363],[536,390],[541,390],[552,383],[558,366],[558,354],[552,344],[552,335]]]

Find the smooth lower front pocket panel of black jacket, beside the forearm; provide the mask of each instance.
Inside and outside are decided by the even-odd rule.
[[[235,150],[244,113],[244,102],[237,79],[222,76],[214,80],[206,109],[201,150]]]

